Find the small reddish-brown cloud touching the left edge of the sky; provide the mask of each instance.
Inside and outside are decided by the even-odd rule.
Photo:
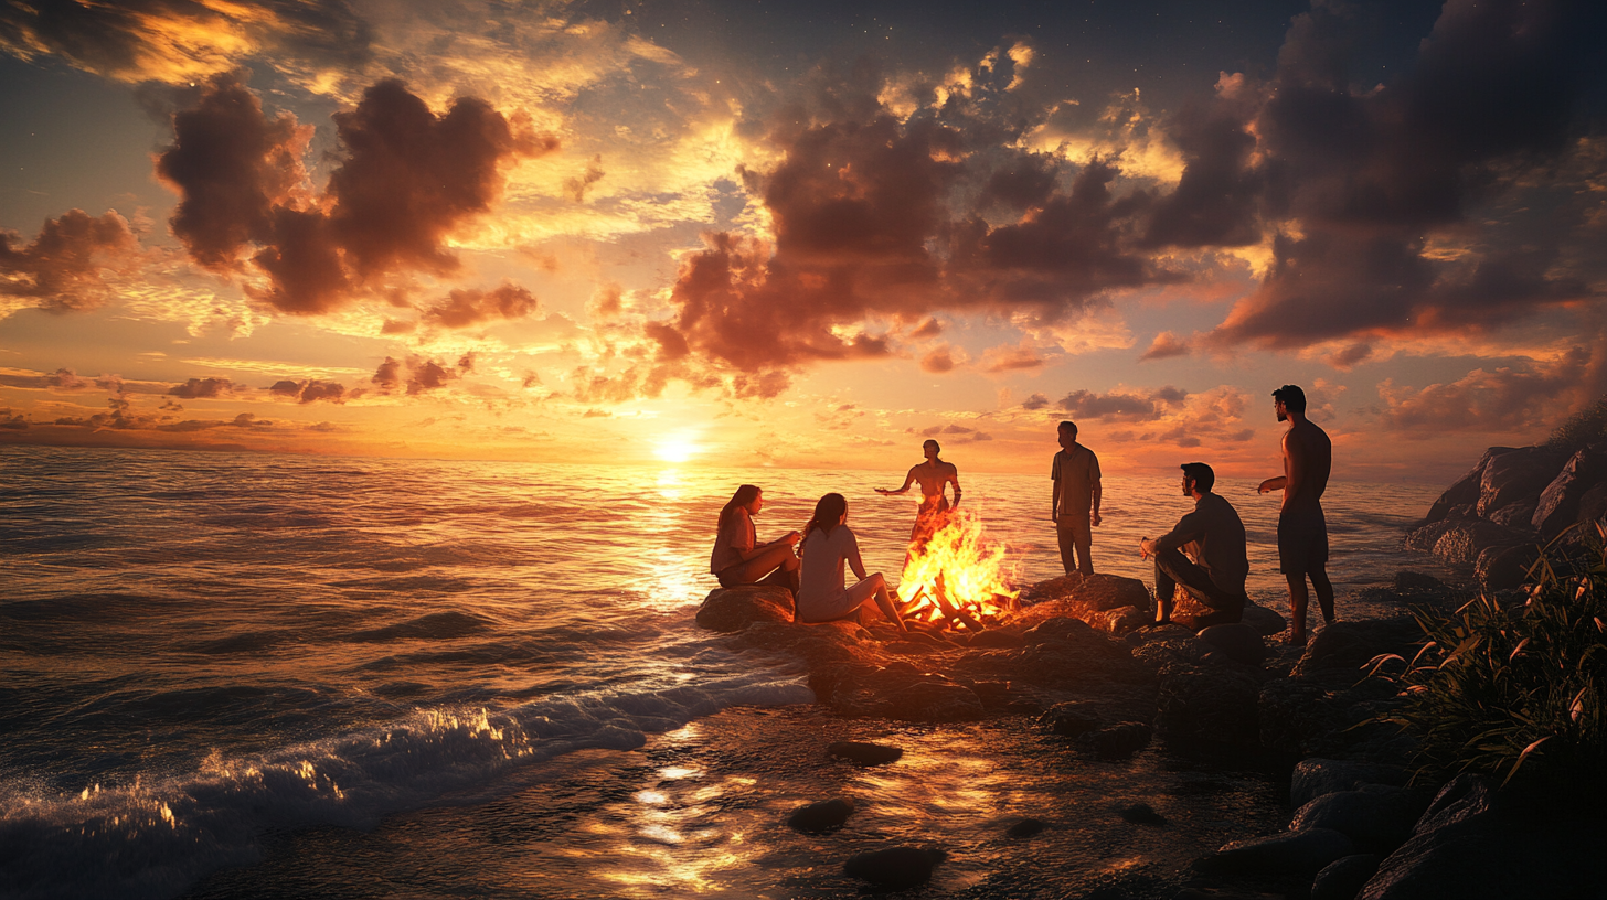
[[[0,294],[32,297],[48,312],[98,307],[111,296],[103,268],[127,262],[138,241],[116,212],[93,217],[82,209],[47,219],[27,246],[0,230]]]

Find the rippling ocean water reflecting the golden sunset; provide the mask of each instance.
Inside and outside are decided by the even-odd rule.
[[[352,863],[328,849],[349,836],[431,810],[471,810],[456,815],[477,821],[537,784],[619,778],[620,760],[643,747],[662,757],[652,783],[680,784],[685,775],[662,771],[697,767],[675,763],[675,747],[696,746],[728,710],[813,715],[795,667],[733,652],[693,620],[715,587],[718,508],[738,484],[760,484],[767,540],[802,527],[813,501],[839,490],[866,566],[897,580],[914,501],[871,489],[897,487],[902,466],[0,448],[0,895],[178,897],[219,884],[220,871],[273,871],[286,841],[309,834],[321,836],[315,849],[292,857],[317,860],[321,847],[326,868],[342,871]],[[1009,546],[1022,583],[1061,574],[1048,477],[963,469],[961,479],[966,506]],[[1282,609],[1276,498],[1257,497],[1253,482],[1218,490],[1250,532],[1252,598]],[[1400,540],[1437,493],[1331,485],[1342,617],[1384,612],[1351,603],[1358,588],[1400,567],[1433,571]],[[1096,567],[1147,582],[1138,538],[1163,532],[1191,501],[1168,477],[1112,476],[1104,497]],[[585,775],[596,767],[614,775]],[[937,768],[921,791],[942,788]],[[1083,783],[1099,789],[1094,776]],[[969,784],[953,788],[987,807]],[[919,807],[914,786],[890,789]],[[569,810],[591,837],[566,857],[569,881],[551,894],[519,889],[522,869],[511,868],[442,892],[646,897],[664,871],[734,858],[730,824],[701,850],[665,837],[675,829],[652,816],[611,831],[615,802],[603,791]],[[456,852],[448,836],[418,841],[402,858]],[[532,841],[569,847],[556,832]],[[587,881],[601,878],[601,861],[641,858],[643,841],[657,874]],[[736,878],[730,895],[759,895],[763,879]],[[337,882],[331,895],[362,894]]]

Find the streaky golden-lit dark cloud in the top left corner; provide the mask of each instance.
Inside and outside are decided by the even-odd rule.
[[[14,0],[0,6],[0,48],[61,56],[122,82],[183,84],[233,69],[246,55],[286,71],[350,69],[370,59],[370,26],[341,0]]]

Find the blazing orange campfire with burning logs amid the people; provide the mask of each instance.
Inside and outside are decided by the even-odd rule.
[[[982,521],[955,509],[924,546],[910,546],[898,582],[905,620],[980,632],[1016,609],[1004,546],[983,538]]]

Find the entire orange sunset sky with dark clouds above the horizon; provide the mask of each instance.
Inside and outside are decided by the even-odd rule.
[[[1589,2],[13,0],[0,442],[1443,482],[1607,392]]]

